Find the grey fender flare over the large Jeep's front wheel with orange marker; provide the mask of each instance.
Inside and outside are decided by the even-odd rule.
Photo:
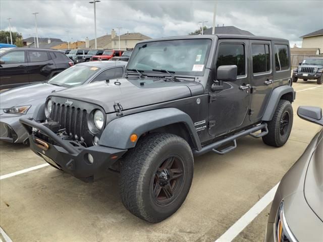
[[[201,144],[191,117],[177,108],[161,108],[130,114],[112,120],[105,127],[99,145],[130,149],[136,146],[136,142],[130,141],[130,136],[142,134],[167,125],[183,123],[190,133],[195,148],[201,149]]]

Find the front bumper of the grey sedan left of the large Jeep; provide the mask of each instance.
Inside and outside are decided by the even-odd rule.
[[[0,115],[0,140],[9,143],[22,143],[28,138],[28,133],[20,124],[20,114],[7,114]],[[25,117],[29,118],[32,114],[26,114]]]

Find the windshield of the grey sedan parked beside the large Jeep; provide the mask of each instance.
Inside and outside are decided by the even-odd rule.
[[[85,83],[95,73],[98,73],[100,68],[76,65],[66,69],[64,72],[51,78],[48,83],[62,86],[77,86]]]

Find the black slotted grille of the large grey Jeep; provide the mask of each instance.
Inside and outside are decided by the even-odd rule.
[[[66,129],[67,134],[72,135],[73,139],[76,139],[76,136],[77,140],[80,140],[81,137],[84,138],[87,127],[85,109],[54,102],[50,118],[60,122],[61,129]]]

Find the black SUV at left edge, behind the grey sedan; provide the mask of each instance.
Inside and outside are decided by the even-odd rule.
[[[0,55],[0,89],[45,81],[73,65],[59,50],[12,48]]]

